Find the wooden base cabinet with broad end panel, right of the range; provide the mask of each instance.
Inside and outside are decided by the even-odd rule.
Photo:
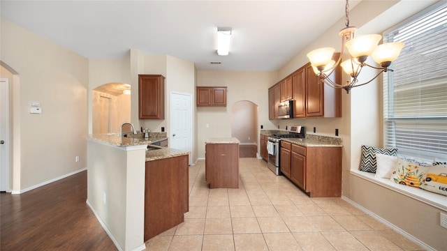
[[[342,196],[342,148],[292,144],[291,181],[309,197]]]

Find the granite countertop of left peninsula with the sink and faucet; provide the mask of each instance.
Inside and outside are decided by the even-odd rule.
[[[161,142],[168,139],[166,132],[150,132],[147,139],[143,138],[140,132],[138,132],[137,135],[128,134],[128,137],[120,137],[118,133],[88,135],[87,139],[92,139],[110,146],[120,147],[148,145],[148,150],[146,151],[146,161],[161,160],[163,158],[173,158],[189,154],[189,152],[179,149],[152,145],[156,142]]]

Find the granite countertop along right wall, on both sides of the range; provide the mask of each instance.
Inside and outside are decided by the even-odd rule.
[[[261,130],[261,135],[270,136],[277,132],[286,132],[281,130]],[[304,139],[281,138],[281,141],[290,142],[305,147],[343,147],[343,140],[339,137],[327,137],[321,135],[307,134]]]

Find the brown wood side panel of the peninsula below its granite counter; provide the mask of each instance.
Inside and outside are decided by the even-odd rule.
[[[184,221],[189,211],[188,155],[146,162],[144,241]]]

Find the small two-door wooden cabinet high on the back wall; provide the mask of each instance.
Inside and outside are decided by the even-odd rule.
[[[226,107],[226,87],[197,86],[197,106]]]

